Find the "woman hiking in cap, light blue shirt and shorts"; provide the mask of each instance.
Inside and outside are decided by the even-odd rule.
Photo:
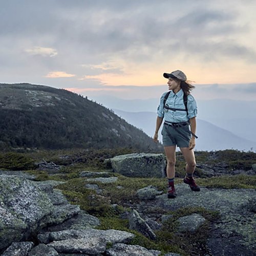
[[[176,198],[174,186],[176,146],[180,148],[186,161],[186,176],[184,183],[193,191],[200,191],[193,173],[196,168],[196,159],[193,148],[196,145],[196,116],[197,103],[190,91],[195,88],[188,81],[186,75],[176,70],[164,73],[168,79],[168,92],[163,93],[157,109],[156,132],[154,141],[158,141],[158,131],[164,119],[162,136],[164,152],[167,159],[166,174],[168,178],[168,198]],[[190,125],[190,129],[189,129]]]

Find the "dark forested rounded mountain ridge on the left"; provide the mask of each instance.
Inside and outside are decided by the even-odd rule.
[[[29,83],[0,84],[0,147],[133,147],[152,138],[87,97]]]

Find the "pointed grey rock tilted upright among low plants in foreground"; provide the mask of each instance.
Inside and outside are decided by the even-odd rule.
[[[156,234],[152,230],[150,226],[143,220],[139,212],[137,210],[133,210],[131,215],[129,216],[129,228],[137,230],[142,233],[145,237],[150,238],[152,240],[156,239]]]

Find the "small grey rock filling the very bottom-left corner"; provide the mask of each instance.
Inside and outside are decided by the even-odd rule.
[[[33,248],[33,242],[13,242],[4,252],[2,256],[27,256],[28,252]]]

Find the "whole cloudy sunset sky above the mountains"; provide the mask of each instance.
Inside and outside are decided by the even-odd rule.
[[[256,99],[255,0],[0,4],[0,83],[147,99],[178,69],[198,99]]]

